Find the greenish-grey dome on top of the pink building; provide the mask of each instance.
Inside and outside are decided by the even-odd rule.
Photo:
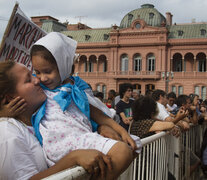
[[[154,8],[152,4],[143,4],[141,8],[135,9],[124,16],[120,23],[120,28],[127,28],[135,19],[144,20],[149,26],[162,26],[166,23],[165,17]]]

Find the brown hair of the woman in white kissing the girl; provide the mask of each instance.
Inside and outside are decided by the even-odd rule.
[[[0,102],[6,94],[15,92],[16,79],[10,71],[16,63],[11,60],[0,62]]]

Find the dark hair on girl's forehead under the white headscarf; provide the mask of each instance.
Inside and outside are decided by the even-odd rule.
[[[32,59],[33,56],[41,56],[42,58],[44,58],[48,62],[57,65],[54,56],[44,46],[34,45],[31,49],[31,51],[30,51],[30,56],[31,56],[31,59]]]

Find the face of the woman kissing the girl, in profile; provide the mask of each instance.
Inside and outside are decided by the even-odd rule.
[[[14,97],[20,96],[27,102],[28,111],[36,111],[45,101],[46,95],[39,85],[39,79],[22,64],[16,63],[10,70],[16,80]]]

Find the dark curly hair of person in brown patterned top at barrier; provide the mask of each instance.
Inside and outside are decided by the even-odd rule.
[[[157,113],[157,103],[150,96],[142,96],[135,100],[132,105],[134,121],[151,119]]]

